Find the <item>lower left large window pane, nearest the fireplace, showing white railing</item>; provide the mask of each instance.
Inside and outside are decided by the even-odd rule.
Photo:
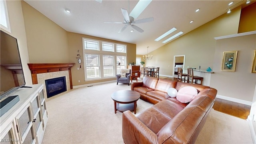
[[[100,56],[85,54],[86,78],[100,78]]]

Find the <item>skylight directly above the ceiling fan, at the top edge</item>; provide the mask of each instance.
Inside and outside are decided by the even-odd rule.
[[[140,0],[133,8],[130,16],[132,16],[134,19],[138,18],[138,16],[143,12],[143,10],[145,10],[148,4],[150,4],[150,2],[152,2],[152,0]]]

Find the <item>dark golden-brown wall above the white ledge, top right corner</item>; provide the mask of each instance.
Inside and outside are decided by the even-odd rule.
[[[256,30],[256,2],[242,9],[238,33]]]

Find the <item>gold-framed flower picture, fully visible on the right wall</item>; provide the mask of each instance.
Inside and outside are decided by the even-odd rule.
[[[223,52],[221,71],[235,72],[238,50]]]

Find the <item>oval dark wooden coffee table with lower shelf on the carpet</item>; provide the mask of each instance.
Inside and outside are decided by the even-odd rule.
[[[134,110],[136,114],[137,100],[140,98],[140,94],[133,90],[118,90],[111,95],[114,100],[114,110],[124,112],[126,110]],[[118,103],[118,104],[116,104]]]

